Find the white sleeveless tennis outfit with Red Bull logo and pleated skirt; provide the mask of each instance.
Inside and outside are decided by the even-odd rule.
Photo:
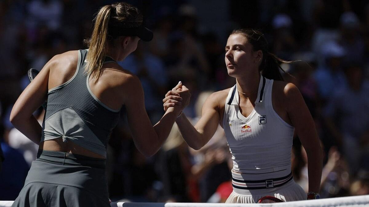
[[[255,108],[248,117],[239,110],[237,84],[225,102],[223,128],[232,154],[233,192],[226,203],[256,203],[263,196],[283,201],[306,200],[291,173],[294,127],[272,106],[273,80],[260,77]]]

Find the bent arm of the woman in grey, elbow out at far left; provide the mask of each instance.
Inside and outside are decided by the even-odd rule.
[[[24,89],[10,113],[13,126],[36,144],[40,143],[42,127],[32,115],[45,102],[48,92],[49,72],[56,58],[45,64],[35,79]]]

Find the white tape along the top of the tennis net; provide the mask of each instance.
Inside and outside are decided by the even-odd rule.
[[[0,201],[0,207],[10,207],[13,201]],[[224,203],[111,203],[112,207],[369,207],[369,195],[348,196],[330,199],[292,201],[265,204],[224,204]]]

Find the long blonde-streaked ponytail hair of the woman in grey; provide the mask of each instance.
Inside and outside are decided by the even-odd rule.
[[[106,46],[117,36],[111,35],[114,29],[139,27],[143,17],[138,8],[131,4],[120,2],[106,5],[100,8],[94,18],[95,25],[91,38],[85,41],[89,47],[85,73],[92,75],[94,80],[99,79],[103,70],[103,62],[106,56]],[[113,45],[112,45],[113,46]]]

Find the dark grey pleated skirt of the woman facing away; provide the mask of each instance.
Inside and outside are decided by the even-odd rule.
[[[110,207],[105,159],[39,151],[12,207]]]

